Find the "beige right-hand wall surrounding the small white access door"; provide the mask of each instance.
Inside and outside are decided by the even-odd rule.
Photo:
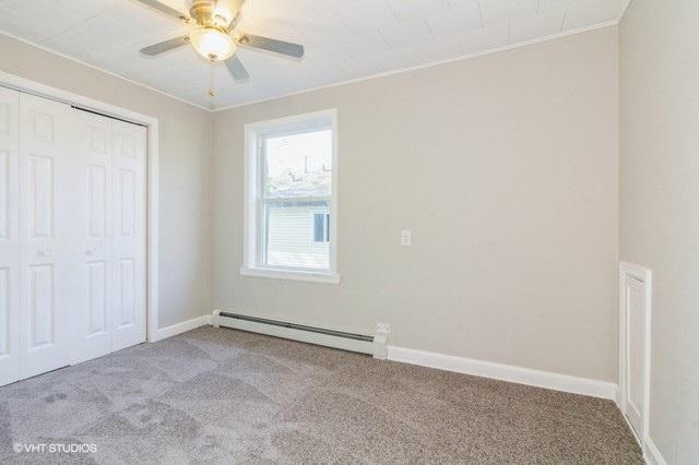
[[[650,436],[699,461],[699,2],[633,0],[620,25],[620,258],[653,271]]]

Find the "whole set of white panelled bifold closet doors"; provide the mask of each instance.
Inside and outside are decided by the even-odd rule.
[[[146,129],[0,87],[0,385],[145,341]]]

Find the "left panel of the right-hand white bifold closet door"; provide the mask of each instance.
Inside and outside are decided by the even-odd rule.
[[[73,361],[84,361],[111,349],[111,119],[73,110],[74,143],[81,181],[76,184],[75,218],[79,293],[75,301]]]

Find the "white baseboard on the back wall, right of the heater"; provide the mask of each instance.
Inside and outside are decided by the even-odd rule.
[[[453,355],[389,346],[388,359],[419,365],[422,367],[437,368],[439,370],[493,378],[512,383],[608,398],[612,401],[616,401],[617,397],[617,385],[611,382],[513,367],[491,361],[474,360]]]

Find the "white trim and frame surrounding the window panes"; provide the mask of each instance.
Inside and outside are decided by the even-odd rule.
[[[260,139],[262,135],[332,126],[332,192],[330,195],[330,269],[328,272],[284,270],[261,265],[262,245],[259,243],[258,225],[261,208]],[[337,274],[337,110],[322,110],[296,115],[245,126],[245,220],[244,266],[240,275],[273,279],[306,281],[311,283],[340,284]]]

